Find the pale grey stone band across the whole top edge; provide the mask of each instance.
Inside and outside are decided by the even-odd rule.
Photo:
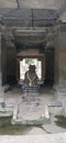
[[[65,9],[66,0],[0,0],[0,8]]]

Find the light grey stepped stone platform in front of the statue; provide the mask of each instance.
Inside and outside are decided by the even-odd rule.
[[[48,108],[38,94],[30,92],[22,96],[22,101],[13,110],[12,119],[19,124],[50,123]]]

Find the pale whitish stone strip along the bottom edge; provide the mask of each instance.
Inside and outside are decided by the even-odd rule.
[[[66,143],[66,133],[44,135],[0,136],[1,143]]]

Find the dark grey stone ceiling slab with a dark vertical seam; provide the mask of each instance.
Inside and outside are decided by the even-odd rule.
[[[0,22],[7,26],[48,26],[58,15],[59,11],[48,9],[0,9]]]

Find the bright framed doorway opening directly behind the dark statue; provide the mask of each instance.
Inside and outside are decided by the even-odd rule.
[[[16,58],[16,79],[19,82],[24,80],[24,75],[29,70],[30,65],[35,65],[35,72],[40,84],[44,81],[45,77],[45,57],[44,54],[25,54],[23,52],[18,54]]]

